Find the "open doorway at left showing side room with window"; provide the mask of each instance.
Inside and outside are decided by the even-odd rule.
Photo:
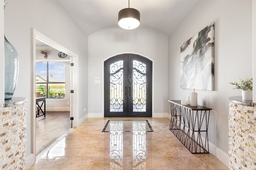
[[[37,158],[48,145],[70,130],[71,57],[60,58],[58,54],[59,50],[36,41]]]

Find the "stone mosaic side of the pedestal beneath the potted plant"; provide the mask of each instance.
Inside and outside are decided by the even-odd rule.
[[[256,170],[256,107],[229,104],[229,169]]]

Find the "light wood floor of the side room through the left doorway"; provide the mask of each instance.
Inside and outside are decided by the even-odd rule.
[[[47,111],[36,118],[36,153],[70,129],[69,111]]]

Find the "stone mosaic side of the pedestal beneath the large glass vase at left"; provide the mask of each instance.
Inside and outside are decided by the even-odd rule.
[[[26,169],[26,103],[0,107],[0,169]]]

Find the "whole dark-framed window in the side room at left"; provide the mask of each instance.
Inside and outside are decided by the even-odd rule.
[[[65,64],[36,63],[36,92],[40,92],[40,97],[65,98]]]

